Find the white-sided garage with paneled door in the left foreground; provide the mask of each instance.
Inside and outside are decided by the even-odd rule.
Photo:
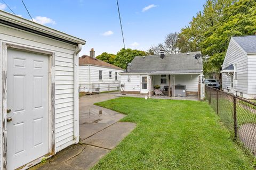
[[[79,141],[85,41],[0,11],[0,165],[28,168]]]

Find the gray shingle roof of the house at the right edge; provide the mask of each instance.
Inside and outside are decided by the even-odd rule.
[[[232,37],[246,53],[256,53],[256,35]]]

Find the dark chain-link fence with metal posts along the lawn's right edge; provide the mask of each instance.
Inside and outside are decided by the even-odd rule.
[[[208,86],[205,97],[234,139],[256,155],[256,103]]]

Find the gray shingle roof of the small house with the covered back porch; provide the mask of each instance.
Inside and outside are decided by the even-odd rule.
[[[196,54],[201,52],[165,54],[161,59],[160,55],[137,56],[131,62],[129,73],[147,74],[185,74],[201,73],[203,71],[202,57],[195,59]],[[123,72],[125,73],[125,72]]]

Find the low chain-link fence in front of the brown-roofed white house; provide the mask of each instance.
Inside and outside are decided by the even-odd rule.
[[[103,92],[109,92],[111,94],[120,94],[120,83],[79,84],[79,94],[100,94]]]

